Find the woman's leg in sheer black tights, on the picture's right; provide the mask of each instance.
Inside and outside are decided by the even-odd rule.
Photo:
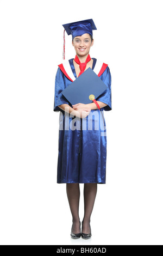
[[[84,218],[82,232],[90,233],[90,218],[95,203],[97,193],[97,183],[84,184]]]

